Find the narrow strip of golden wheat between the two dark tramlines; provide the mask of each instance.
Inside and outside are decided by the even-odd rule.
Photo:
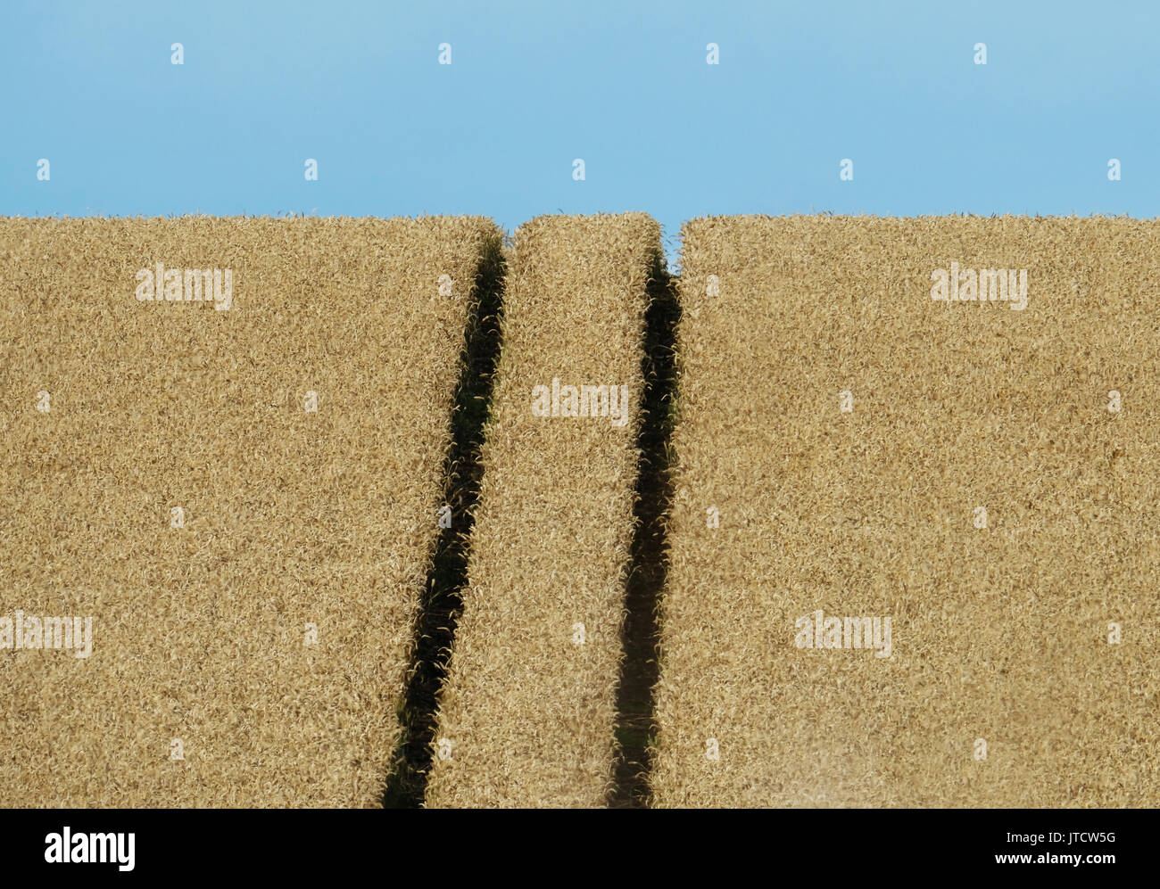
[[[516,233],[428,806],[608,799],[659,246],[643,214],[539,217]],[[536,416],[534,389],[553,379],[564,410],[565,386],[626,386],[626,420]]]

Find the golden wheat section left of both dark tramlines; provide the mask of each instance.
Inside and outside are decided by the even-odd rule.
[[[0,619],[93,619],[87,658],[0,649],[0,804],[380,802],[500,239],[0,220]],[[138,299],[158,262],[232,305]]]

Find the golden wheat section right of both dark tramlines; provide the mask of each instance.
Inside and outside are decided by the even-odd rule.
[[[686,225],[655,804],[1160,804],[1158,234]]]

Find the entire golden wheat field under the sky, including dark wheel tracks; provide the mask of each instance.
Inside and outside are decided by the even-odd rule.
[[[1160,804],[1155,223],[680,264],[644,213],[0,219],[0,803],[606,807],[643,719],[658,808]]]

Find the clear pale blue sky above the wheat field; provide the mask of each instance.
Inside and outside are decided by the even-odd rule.
[[[1151,2],[5,6],[0,216],[1160,216]]]

